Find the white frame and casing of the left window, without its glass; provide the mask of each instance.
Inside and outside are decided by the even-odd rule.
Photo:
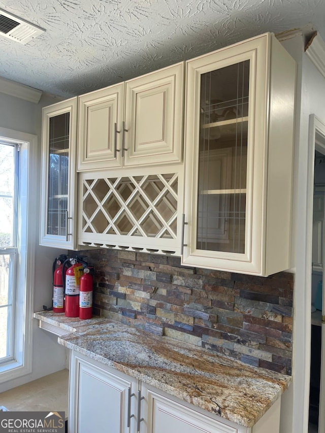
[[[20,264],[16,269],[14,359],[0,364],[0,383],[32,372],[32,314],[34,310],[37,203],[37,136],[0,127],[0,140],[19,144],[19,206],[17,248]],[[18,262],[18,260],[17,260]]]

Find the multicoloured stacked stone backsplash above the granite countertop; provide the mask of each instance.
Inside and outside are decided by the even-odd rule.
[[[186,268],[179,257],[141,252],[82,254],[95,266],[95,314],[291,374],[293,274]]]

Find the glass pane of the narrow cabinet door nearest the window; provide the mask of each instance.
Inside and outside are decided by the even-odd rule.
[[[47,234],[66,236],[70,113],[49,119]]]

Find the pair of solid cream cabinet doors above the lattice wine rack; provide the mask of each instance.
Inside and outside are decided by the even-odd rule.
[[[184,62],[79,97],[78,170],[182,159]]]

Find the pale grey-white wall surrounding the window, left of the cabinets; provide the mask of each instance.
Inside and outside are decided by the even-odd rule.
[[[42,107],[58,100],[50,95],[43,95],[39,104],[33,104],[0,93],[0,127],[38,136],[38,185],[41,184]],[[40,197],[39,188],[35,194]],[[40,200],[38,200],[38,208],[35,209],[37,221],[39,221],[40,215],[39,203]],[[35,286],[30,289],[34,290],[34,311],[40,311],[43,309],[43,305],[50,306],[52,304],[52,263],[61,251],[38,245],[39,223],[35,236],[37,237]],[[56,336],[38,328],[37,321],[32,320],[34,321],[32,373],[0,384],[0,392],[65,368],[66,349],[58,345]]]

